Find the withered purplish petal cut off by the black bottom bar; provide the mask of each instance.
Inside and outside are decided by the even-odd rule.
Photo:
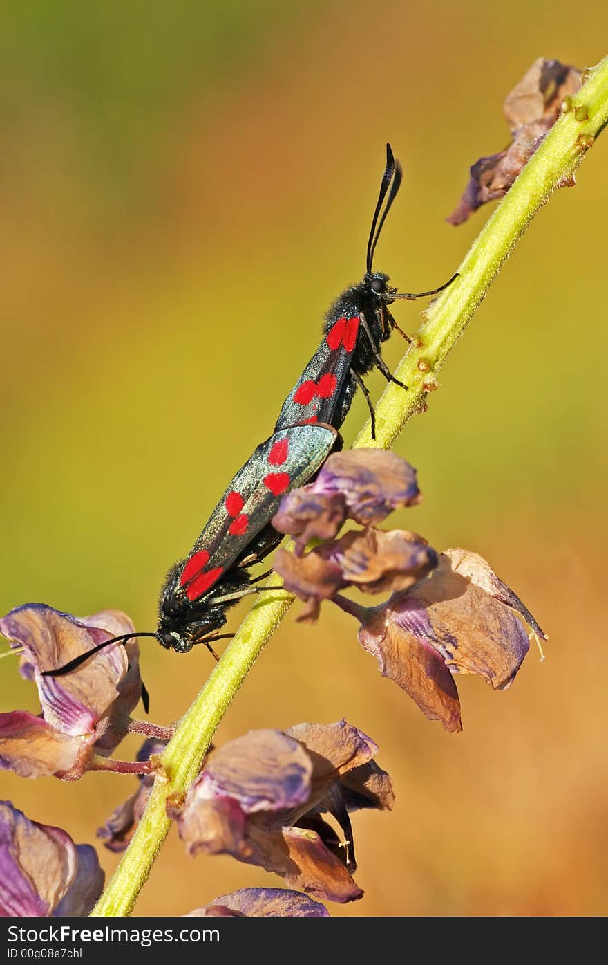
[[[325,905],[302,892],[287,888],[241,888],[238,892],[215,898],[212,904],[197,908],[185,917],[207,918],[226,914],[248,918],[327,918],[330,913]]]

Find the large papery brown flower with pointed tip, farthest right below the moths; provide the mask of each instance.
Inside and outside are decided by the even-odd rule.
[[[495,690],[506,690],[529,648],[519,616],[544,637],[489,564],[463,549],[446,550],[433,574],[382,606],[336,602],[360,620],[359,642],[377,658],[383,676],[446,731],[462,730],[455,674],[484,676]]]

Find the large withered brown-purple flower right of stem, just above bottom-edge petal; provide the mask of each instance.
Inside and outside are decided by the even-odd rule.
[[[351,875],[349,811],[393,801],[390,779],[372,759],[377,752],[346,721],[250,731],[211,754],[175,812],[180,837],[191,854],[231,854],[315,896],[352,901],[362,892]]]

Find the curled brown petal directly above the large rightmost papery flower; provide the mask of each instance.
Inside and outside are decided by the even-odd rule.
[[[426,539],[406,530],[377,530],[372,526],[352,530],[309,555],[339,565],[342,586],[357,586],[363,593],[408,590],[436,566],[437,560]]]

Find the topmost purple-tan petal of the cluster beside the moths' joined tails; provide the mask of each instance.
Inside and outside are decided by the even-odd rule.
[[[315,493],[341,494],[348,515],[363,525],[382,522],[392,510],[414,506],[422,498],[415,469],[383,449],[333,453],[311,488]]]

